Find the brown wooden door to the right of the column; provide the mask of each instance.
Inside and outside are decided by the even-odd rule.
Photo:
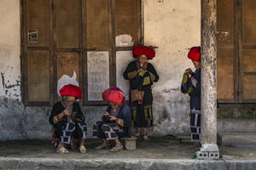
[[[255,103],[256,1],[217,1],[217,88],[221,103]]]

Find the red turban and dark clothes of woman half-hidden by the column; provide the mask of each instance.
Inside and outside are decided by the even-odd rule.
[[[201,48],[193,47],[190,49],[188,58],[200,61]],[[190,129],[191,140],[200,142],[201,140],[201,69],[192,73],[192,77],[185,72],[181,85],[181,92],[189,94],[190,97]]]

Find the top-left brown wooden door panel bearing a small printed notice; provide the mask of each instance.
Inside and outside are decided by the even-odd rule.
[[[49,0],[27,0],[26,5],[27,46],[49,46]]]

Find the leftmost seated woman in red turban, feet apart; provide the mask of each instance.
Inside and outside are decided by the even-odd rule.
[[[84,123],[84,115],[76,99],[82,99],[82,89],[68,84],[61,88],[62,100],[55,103],[49,122],[55,128],[53,138],[57,143],[56,152],[66,154],[69,151],[65,144],[71,144],[72,137],[80,139],[79,151],[85,153],[84,139],[86,139],[87,127]]]

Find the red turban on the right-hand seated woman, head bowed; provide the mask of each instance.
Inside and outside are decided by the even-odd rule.
[[[108,88],[102,93],[102,99],[121,105],[122,101],[125,100],[125,96],[119,88]]]

